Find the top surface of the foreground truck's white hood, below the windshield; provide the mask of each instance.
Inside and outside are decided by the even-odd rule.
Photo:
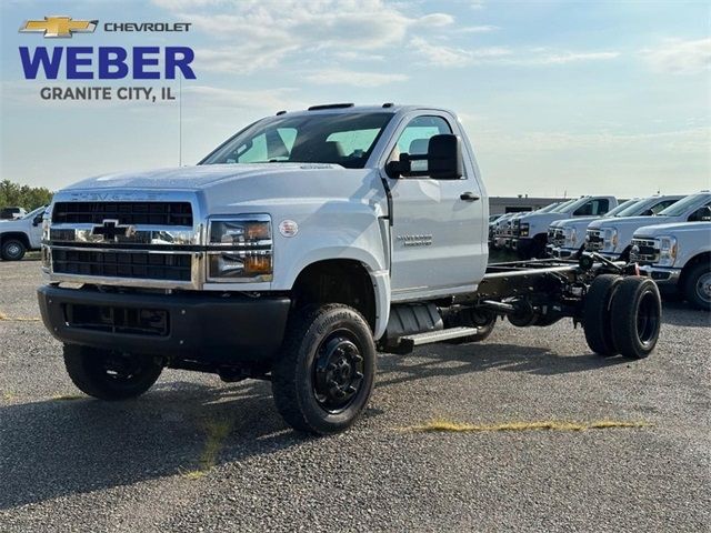
[[[261,164],[200,164],[102,174],[74,183],[64,190],[76,189],[173,189],[201,190],[226,180],[240,180],[260,175],[289,174],[310,170],[343,169],[338,164],[261,163]]]

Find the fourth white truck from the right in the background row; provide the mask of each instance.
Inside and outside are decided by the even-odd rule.
[[[581,197],[548,213],[521,217],[513,224],[515,251],[521,259],[542,258],[548,243],[548,227],[552,222],[578,217],[602,217],[617,205],[614,197]]]

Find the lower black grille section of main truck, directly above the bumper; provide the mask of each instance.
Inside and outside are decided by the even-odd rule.
[[[190,281],[190,265],[189,253],[52,250],[52,270],[58,274]]]

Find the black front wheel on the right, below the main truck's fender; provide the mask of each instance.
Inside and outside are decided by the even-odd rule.
[[[294,430],[324,435],[349,428],[370,399],[375,345],[352,308],[306,309],[290,321],[272,366],[277,409]]]

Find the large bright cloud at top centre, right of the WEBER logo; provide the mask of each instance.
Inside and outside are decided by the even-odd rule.
[[[411,31],[454,23],[447,13],[408,14],[402,4],[383,0],[152,1],[209,37],[196,56],[213,72],[252,72],[314,54],[379,56],[405,42]]]

